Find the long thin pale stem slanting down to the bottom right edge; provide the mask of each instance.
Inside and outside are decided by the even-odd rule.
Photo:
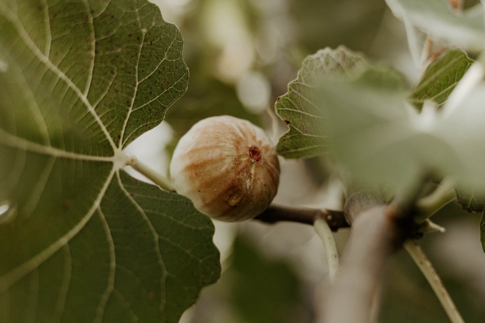
[[[424,277],[426,277],[426,280],[438,297],[438,300],[445,309],[445,312],[450,318],[450,321],[452,323],[464,323],[463,318],[456,309],[453,300],[450,297],[450,294],[446,290],[443,282],[436,273],[435,268],[433,268],[433,265],[428,260],[424,252],[421,250],[420,246],[418,246],[418,244],[416,244],[414,240],[406,240],[404,241],[403,245],[411,258],[420,268]]]

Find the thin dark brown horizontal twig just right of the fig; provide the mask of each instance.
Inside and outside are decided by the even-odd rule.
[[[313,225],[317,218],[323,218],[332,231],[349,227],[345,220],[344,212],[334,210],[296,208],[272,204],[263,213],[255,217],[256,220],[266,223],[290,221],[309,225]]]

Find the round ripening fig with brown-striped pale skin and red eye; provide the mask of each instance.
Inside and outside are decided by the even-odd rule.
[[[247,120],[210,117],[195,123],[170,163],[178,194],[221,221],[242,221],[263,212],[276,195],[279,162],[264,131]]]

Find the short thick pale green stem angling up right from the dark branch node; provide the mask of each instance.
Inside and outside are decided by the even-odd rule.
[[[418,215],[415,217],[416,223],[424,222],[428,217],[455,199],[456,193],[453,182],[449,179],[444,179],[433,193],[416,202],[418,211]]]

